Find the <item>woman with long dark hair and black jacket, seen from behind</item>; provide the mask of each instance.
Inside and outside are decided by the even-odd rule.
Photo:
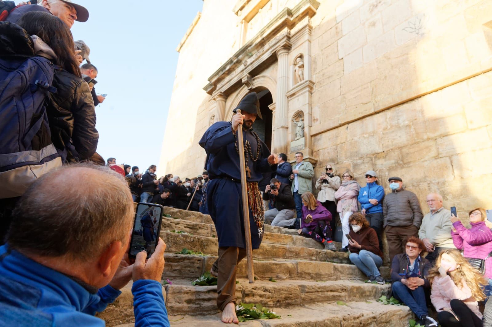
[[[94,102],[89,85],[81,78],[70,30],[58,17],[42,11],[24,14],[18,25],[31,35],[36,55],[55,64],[53,86],[57,92],[50,95],[47,106],[53,144],[67,150],[68,162],[100,157],[95,154],[99,134]],[[97,158],[97,163],[100,161],[104,164]]]

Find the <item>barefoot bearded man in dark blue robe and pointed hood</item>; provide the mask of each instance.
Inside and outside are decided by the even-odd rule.
[[[241,109],[241,113],[236,113]],[[217,275],[217,307],[222,311],[222,322],[238,323],[236,316],[236,271],[246,256],[243,220],[243,197],[239,165],[238,142],[244,142],[247,196],[251,244],[257,249],[263,238],[263,202],[258,189],[262,173],[277,170],[277,155],[271,154],[265,143],[253,131],[256,118],[261,119],[256,92],[247,94],[230,122],[216,122],[208,128],[199,144],[207,152],[205,162],[210,182],[206,201],[214,220],[218,237],[218,259],[211,273]],[[242,124],[243,139],[237,129]]]

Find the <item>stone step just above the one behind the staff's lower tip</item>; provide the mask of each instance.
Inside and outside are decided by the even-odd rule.
[[[216,255],[218,249],[218,241],[216,238],[176,234],[162,231],[160,236],[167,245],[167,252],[180,252],[183,248],[188,248],[194,251],[203,252],[204,254]],[[263,243],[260,248],[253,251],[255,259],[302,259],[315,261],[329,261],[337,263],[350,263],[348,253],[321,250],[310,247],[302,247],[295,245],[281,245]]]

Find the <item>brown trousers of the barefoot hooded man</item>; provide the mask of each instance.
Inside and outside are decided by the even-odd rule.
[[[246,249],[235,246],[218,248],[218,259],[213,270],[217,274],[217,308],[224,311],[227,303],[236,303],[236,272],[238,264],[246,257]]]

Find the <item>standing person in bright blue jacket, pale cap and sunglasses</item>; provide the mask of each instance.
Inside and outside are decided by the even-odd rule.
[[[357,200],[361,203],[362,214],[366,216],[369,225],[376,231],[379,241],[379,249],[383,250],[383,242],[381,241],[381,233],[383,232],[383,197],[384,189],[377,184],[377,175],[374,170],[366,172],[366,186],[361,188]],[[342,252],[348,251],[344,247],[340,249]]]

